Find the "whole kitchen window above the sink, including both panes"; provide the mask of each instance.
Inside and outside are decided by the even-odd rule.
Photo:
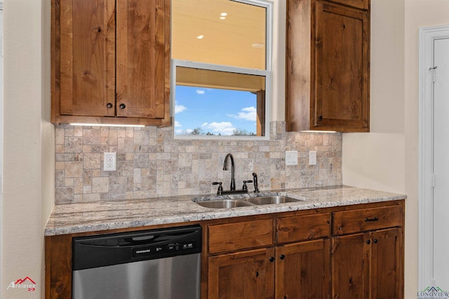
[[[175,138],[267,138],[272,2],[172,0]]]

